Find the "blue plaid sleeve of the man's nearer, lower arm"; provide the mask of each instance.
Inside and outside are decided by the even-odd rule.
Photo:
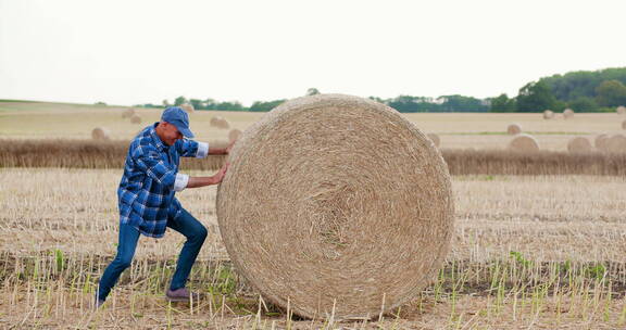
[[[139,145],[134,152],[139,169],[150,178],[168,188],[174,187],[176,181],[176,170],[174,167],[163,162],[159,152],[151,147]]]

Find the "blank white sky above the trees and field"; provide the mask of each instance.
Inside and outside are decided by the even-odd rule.
[[[0,99],[516,96],[626,66],[624,0],[0,0]]]

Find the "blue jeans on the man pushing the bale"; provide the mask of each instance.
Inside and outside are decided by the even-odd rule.
[[[176,290],[185,287],[191,266],[198,257],[198,253],[206,238],[206,228],[200,224],[187,211],[180,210],[180,214],[175,219],[167,219],[167,227],[180,232],[187,238],[178,262],[176,263],[176,271],[170,283],[170,290]],[[139,230],[130,225],[120,225],[120,242],[117,243],[117,255],[115,259],[107,267],[102,278],[100,278],[100,285],[98,290],[98,299],[107,300],[107,296],[113,289],[113,285],[120,279],[120,275],[124,269],[130,266],[137,241],[139,240]]]

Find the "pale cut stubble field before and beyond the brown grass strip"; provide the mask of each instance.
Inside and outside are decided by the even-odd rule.
[[[108,126],[127,140],[143,123],[123,109],[0,102],[0,138],[88,139]],[[139,110],[142,112],[145,110]],[[199,140],[225,140],[215,113],[196,112]],[[261,114],[220,113],[245,129]],[[503,149],[506,125],[562,150],[573,136],[618,132],[615,114],[543,120],[538,114],[415,114],[441,147]],[[626,164],[625,164],[626,166]],[[206,170],[188,170],[210,175]],[[121,168],[2,168],[0,173],[0,321],[7,328],[213,329],[621,329],[626,327],[626,177],[453,176],[455,234],[445,268],[421,297],[371,320],[301,320],[265,304],[231,268],[215,217],[214,187],[177,194],[209,229],[190,277],[206,294],[167,304],[163,292],[184,238],[141,238],[132,268],[105,306],[91,299],[117,237]],[[3,327],[4,327],[3,326]]]

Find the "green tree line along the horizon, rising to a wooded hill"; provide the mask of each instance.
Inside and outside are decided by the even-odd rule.
[[[563,111],[567,107],[576,112],[608,112],[615,106],[626,105],[626,67],[601,71],[579,71],[564,75],[542,77],[519,88],[516,97],[502,93],[496,98],[477,99],[453,94],[438,98],[398,96],[390,99],[370,97],[402,113],[417,112],[543,112]],[[306,90],[306,96],[320,93],[316,88]],[[161,104],[138,104],[141,107],[163,107],[191,104],[196,110],[267,112],[286,99],[255,101],[243,106],[239,101],[216,101],[214,99],[187,99],[178,97],[174,102],[163,100]]]

